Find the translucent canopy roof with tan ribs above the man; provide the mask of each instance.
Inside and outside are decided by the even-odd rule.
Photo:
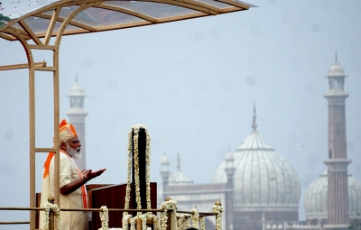
[[[153,23],[225,14],[248,10],[250,6],[237,0],[1,0],[0,37],[17,40],[6,30],[21,32],[26,40],[33,35],[43,38],[56,21],[51,36],[74,11],[79,11],[63,35],[124,29]],[[79,8],[84,5],[84,10]],[[33,34],[32,34],[33,32]]]

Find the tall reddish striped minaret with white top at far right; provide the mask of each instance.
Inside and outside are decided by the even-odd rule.
[[[346,115],[345,100],[348,94],[344,91],[345,70],[338,63],[336,54],[335,63],[329,68],[329,92],[325,97],[329,101],[329,146],[328,166],[328,223],[325,228],[347,229],[349,225],[348,211],[348,182],[346,143]]]

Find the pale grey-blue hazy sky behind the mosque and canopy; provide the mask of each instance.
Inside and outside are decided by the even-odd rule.
[[[127,132],[138,123],[151,134],[153,181],[162,182],[164,152],[171,170],[180,152],[181,170],[197,183],[208,183],[228,149],[236,150],[252,131],[255,103],[258,131],[299,174],[304,219],[304,191],[326,170],[324,76],[335,51],[348,75],[348,169],[361,181],[361,2],[249,3],[258,7],[62,39],[60,118],[68,118],[67,95],[78,75],[88,95],[88,168],[107,169],[92,183],[125,182]],[[0,65],[26,62],[18,41],[0,40],[0,51]],[[43,59],[51,63],[50,53],[35,53],[35,61]],[[0,96],[0,207],[27,207],[27,69],[0,72]],[[51,147],[51,73],[36,75],[36,109],[36,145]],[[45,156],[37,153],[37,191]],[[1,212],[0,221],[29,219],[27,212]]]

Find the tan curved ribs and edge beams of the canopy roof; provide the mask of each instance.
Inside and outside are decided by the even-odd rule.
[[[24,14],[22,17],[17,18],[15,20],[12,20],[8,22],[3,29],[0,29],[0,38],[4,38],[6,40],[14,41],[16,38],[14,36],[6,36],[3,32],[5,28],[10,28],[14,30],[15,32],[21,31],[24,38],[26,40],[32,39],[35,41],[35,43],[39,44],[41,41],[39,38],[47,37],[47,41],[49,41],[49,36],[57,36],[57,33],[53,33],[51,30],[51,33],[48,32],[42,33],[39,32],[37,34],[34,34],[30,28],[26,25],[24,22],[24,19],[28,17],[41,17],[44,19],[51,19],[54,18],[54,14],[51,16],[49,14],[44,14],[45,12],[53,11],[55,9],[61,9],[62,7],[70,6],[70,5],[84,5],[84,4],[91,4],[91,3],[97,3],[97,5],[93,5],[97,8],[103,8],[111,11],[121,12],[124,14],[133,15],[134,17],[143,19],[143,22],[132,22],[132,23],[123,23],[123,24],[113,24],[113,25],[106,25],[102,26],[101,28],[95,28],[91,25],[87,25],[84,23],[78,23],[73,22],[70,20],[69,24],[74,25],[76,27],[79,27],[79,29],[74,29],[68,32],[63,32],[62,35],[69,35],[69,34],[78,34],[78,33],[84,33],[84,32],[99,32],[99,31],[108,31],[108,30],[116,30],[121,28],[129,28],[134,26],[143,26],[147,24],[152,23],[168,23],[173,21],[179,21],[179,20],[185,20],[189,18],[195,18],[195,17],[202,17],[202,16],[208,16],[208,15],[217,15],[217,14],[224,14],[229,12],[236,12],[236,11],[242,11],[242,10],[248,10],[249,5],[245,5],[243,3],[237,2],[236,0],[215,0],[223,4],[229,5],[229,7],[226,8],[218,8],[214,5],[210,5],[205,2],[200,2],[197,0],[138,0],[138,2],[154,2],[159,4],[165,4],[165,5],[176,5],[184,8],[188,8],[191,10],[194,10],[195,13],[190,14],[179,14],[179,15],[172,15],[169,17],[164,18],[153,18],[151,15],[142,14],[140,12],[136,12],[130,9],[126,9],[125,7],[121,6],[115,6],[115,5],[102,5],[103,2],[97,2],[95,0],[60,0],[57,2],[52,3],[51,5],[46,5],[38,10],[33,11],[29,14]],[[56,21],[63,23],[65,18],[59,17],[56,15]],[[19,23],[22,29],[15,28],[14,23]],[[53,28],[52,28],[53,29]],[[47,42],[44,42],[47,43]]]

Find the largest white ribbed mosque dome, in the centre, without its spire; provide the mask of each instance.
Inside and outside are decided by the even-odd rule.
[[[300,179],[291,164],[274,152],[256,131],[234,152],[235,207],[245,210],[298,211]],[[223,161],[212,180],[227,182]]]

